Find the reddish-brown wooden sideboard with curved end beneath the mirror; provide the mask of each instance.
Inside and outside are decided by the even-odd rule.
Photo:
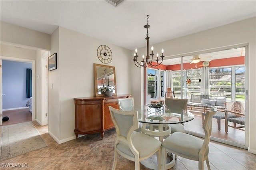
[[[131,95],[115,95],[111,97],[80,97],[75,101],[75,129],[78,134],[101,133],[103,139],[105,130],[114,128],[108,106],[119,109],[118,99]]]

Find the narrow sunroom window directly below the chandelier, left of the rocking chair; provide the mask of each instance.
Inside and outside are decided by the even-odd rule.
[[[148,69],[148,94],[151,96],[151,98],[157,98],[157,75],[158,70],[156,69]],[[160,71],[160,90],[161,90],[161,97],[164,97],[164,71]]]

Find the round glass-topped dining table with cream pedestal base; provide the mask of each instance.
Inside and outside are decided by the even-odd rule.
[[[145,105],[145,106],[132,106],[127,108],[122,108],[126,111],[137,111],[138,121],[141,124],[141,132],[148,134],[152,137],[158,137],[161,142],[164,138],[169,136],[171,133],[170,124],[179,124],[192,121],[194,119],[194,114],[186,110],[175,111],[174,113],[166,105]],[[170,155],[170,154],[169,154]],[[172,168],[175,164],[175,158],[172,156],[171,162],[166,166],[167,169]],[[141,163],[151,169],[157,169],[157,165],[151,164],[146,161],[141,161]]]

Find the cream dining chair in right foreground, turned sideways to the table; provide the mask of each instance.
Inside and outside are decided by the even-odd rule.
[[[182,132],[174,132],[162,142],[162,169],[165,169],[166,152],[173,153],[175,155],[187,158],[190,160],[198,161],[198,169],[204,169],[204,160],[208,169],[210,170],[209,164],[209,142],[212,133],[212,116],[217,112],[215,106],[212,107],[211,111],[207,111],[206,117],[203,124],[204,129],[204,140],[192,136],[190,134]],[[176,156],[175,156],[176,158]]]

